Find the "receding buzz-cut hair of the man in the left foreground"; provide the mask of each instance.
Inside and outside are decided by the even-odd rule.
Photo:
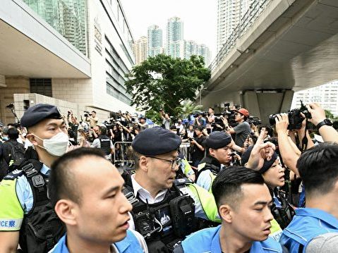
[[[78,190],[80,185],[76,182],[72,168],[76,161],[83,159],[85,156],[105,159],[101,149],[81,147],[67,152],[52,164],[48,193],[53,206],[60,199],[70,199],[73,202],[80,203],[81,195]]]

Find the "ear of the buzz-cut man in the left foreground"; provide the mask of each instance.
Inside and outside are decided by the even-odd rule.
[[[69,199],[60,199],[56,202],[54,210],[61,221],[70,226],[74,226],[77,223],[76,217],[78,215],[76,206],[77,204]]]

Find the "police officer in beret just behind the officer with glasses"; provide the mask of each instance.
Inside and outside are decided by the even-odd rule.
[[[198,164],[197,184],[211,192],[211,185],[221,168],[229,166],[232,160],[232,149],[242,151],[234,144],[231,135],[215,131],[205,140],[207,152]]]

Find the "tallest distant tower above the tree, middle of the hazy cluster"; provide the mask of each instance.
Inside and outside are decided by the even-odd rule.
[[[169,18],[167,23],[166,54],[171,57],[184,57],[183,22],[181,18]]]

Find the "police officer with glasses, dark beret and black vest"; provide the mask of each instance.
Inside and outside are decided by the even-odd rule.
[[[147,128],[133,140],[135,174],[126,179],[133,203],[133,226],[149,252],[170,252],[195,229],[195,216],[219,221],[214,197],[188,178],[175,180],[181,138],[163,128]],[[133,196],[134,197],[133,197]]]

